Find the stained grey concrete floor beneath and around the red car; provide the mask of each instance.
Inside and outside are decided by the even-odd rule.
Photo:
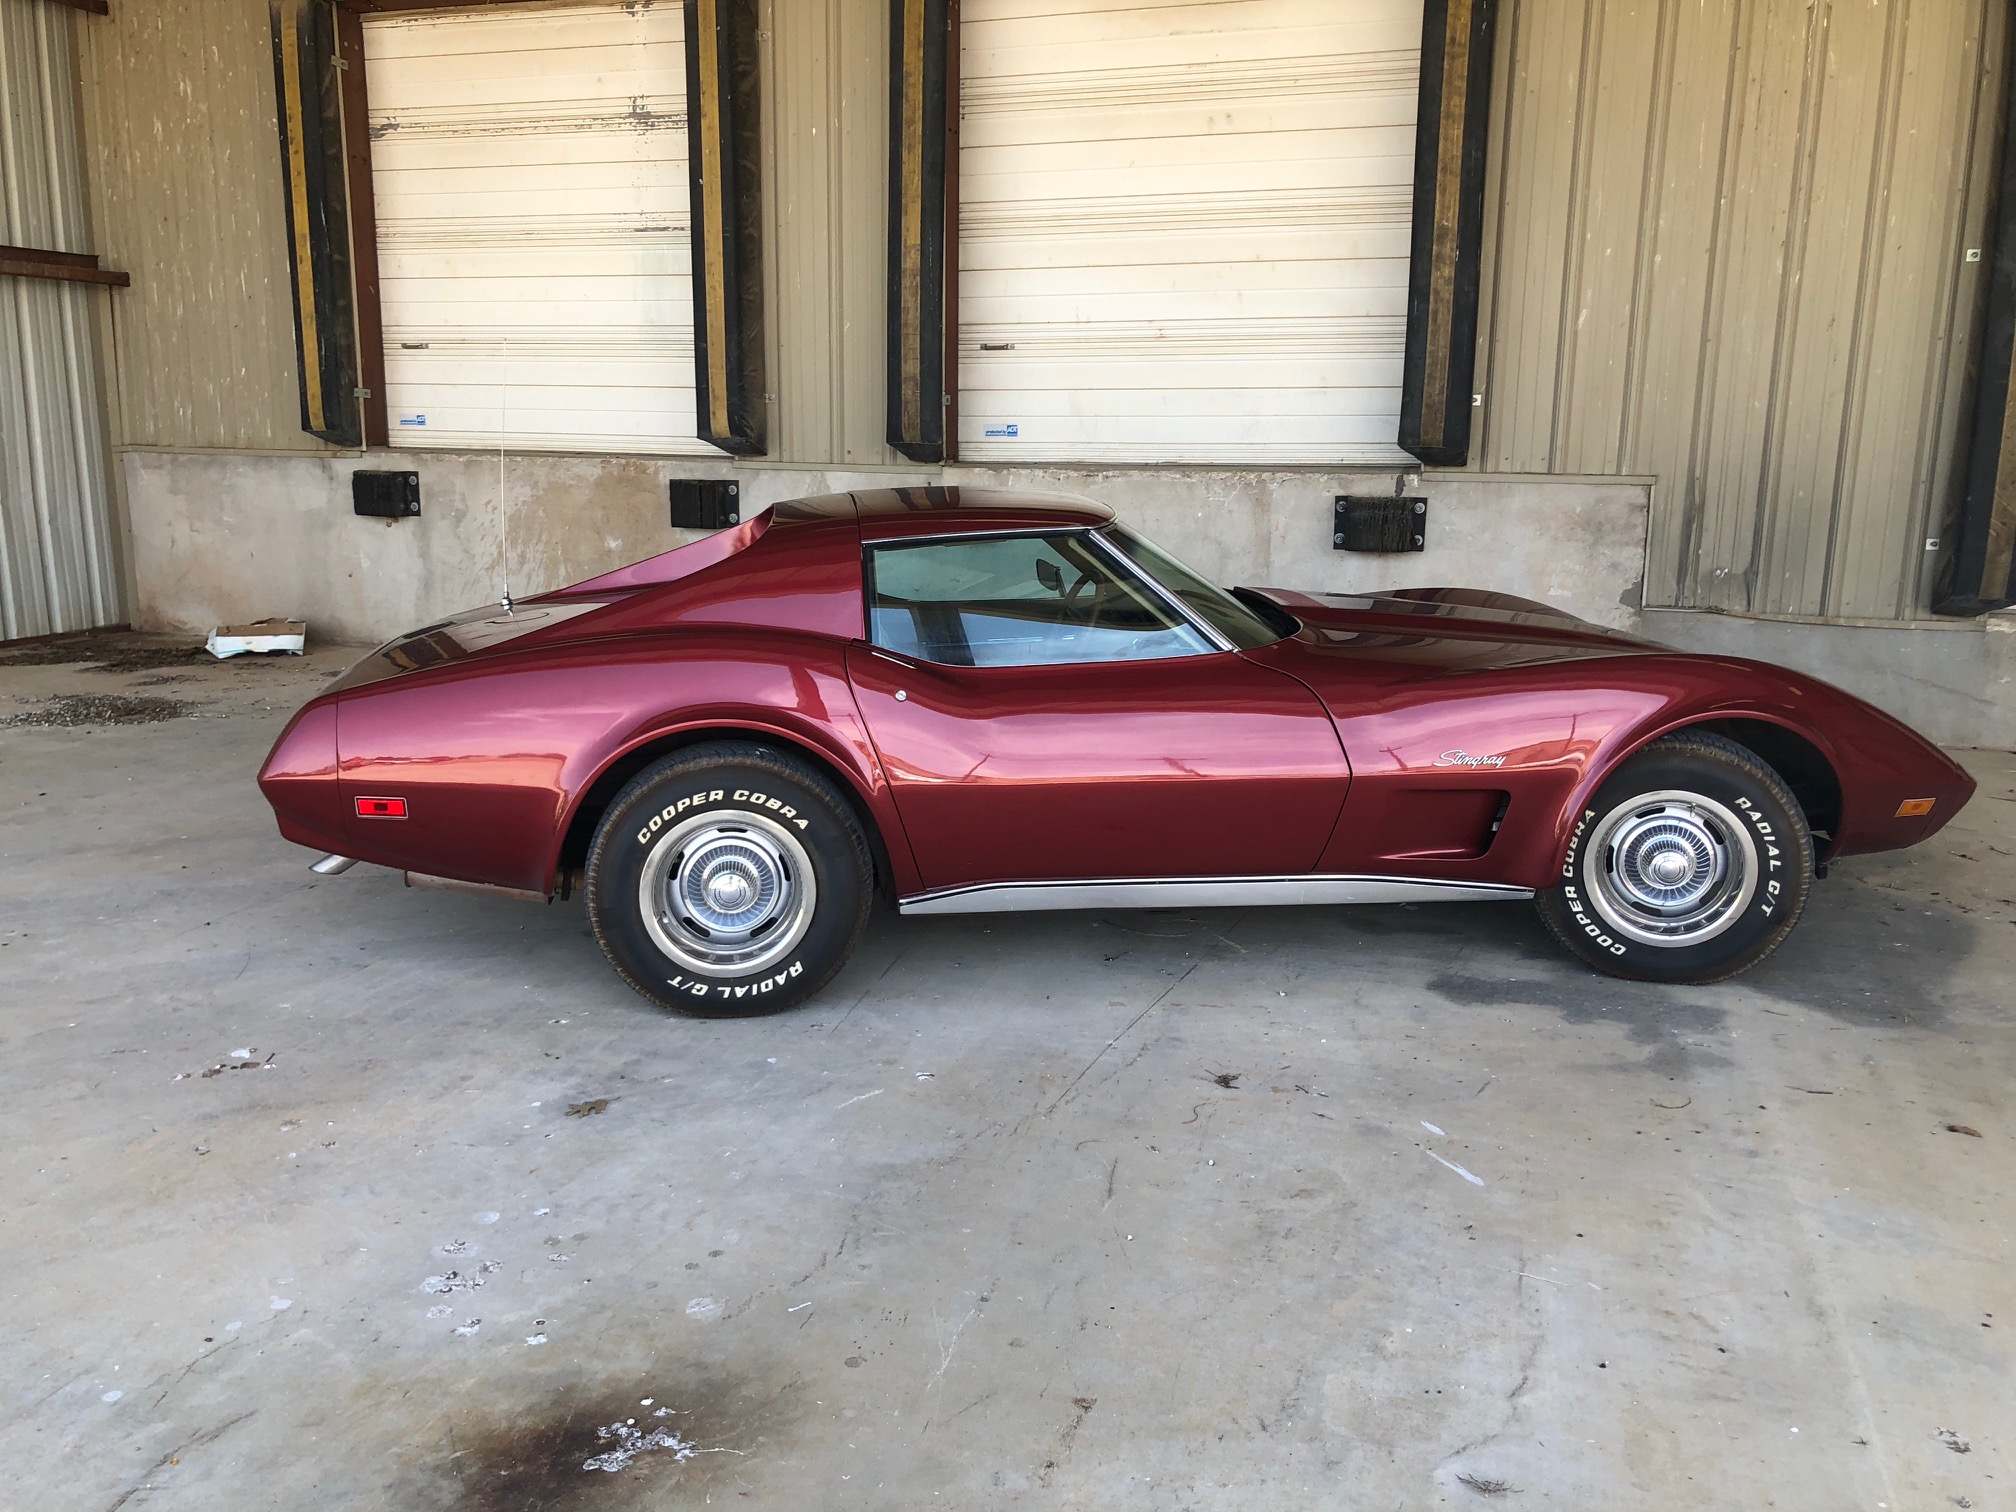
[[[2016,1506],[2010,756],[1712,990],[883,917],[708,1024],[310,877],[252,772],[343,661],[0,667],[196,706],[0,728],[0,1504]]]

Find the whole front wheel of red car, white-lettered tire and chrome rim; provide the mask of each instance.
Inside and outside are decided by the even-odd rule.
[[[1812,835],[1784,780],[1732,740],[1677,734],[1603,782],[1534,903],[1599,972],[1720,982],[1778,950],[1810,889]]]

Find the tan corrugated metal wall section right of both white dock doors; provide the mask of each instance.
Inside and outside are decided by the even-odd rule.
[[[1476,466],[1651,474],[1653,605],[1911,617],[2002,0],[1512,0]]]

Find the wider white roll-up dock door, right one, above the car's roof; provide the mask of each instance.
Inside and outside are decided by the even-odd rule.
[[[1393,464],[1421,0],[964,0],[960,458]]]

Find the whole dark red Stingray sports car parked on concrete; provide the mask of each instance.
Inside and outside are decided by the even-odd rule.
[[[1101,504],[895,488],[403,635],[260,772],[409,883],[587,891],[637,992],[798,1002],[903,913],[1534,899],[1714,982],[1974,782],[1887,714],[1466,589],[1218,589]]]

